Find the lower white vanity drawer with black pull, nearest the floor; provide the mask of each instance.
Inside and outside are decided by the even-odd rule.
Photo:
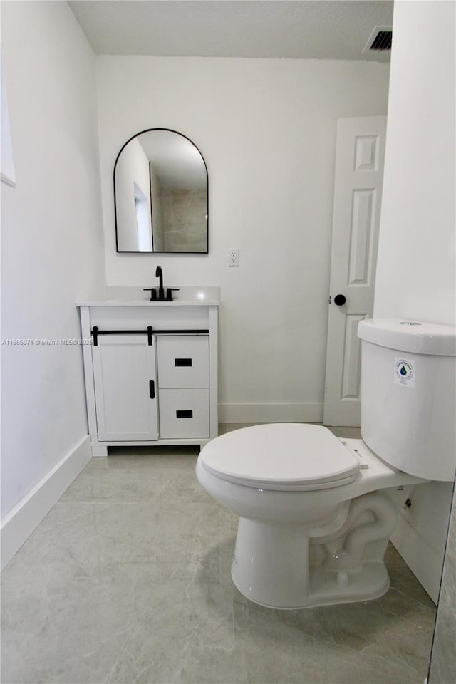
[[[209,390],[160,390],[160,439],[209,437]]]

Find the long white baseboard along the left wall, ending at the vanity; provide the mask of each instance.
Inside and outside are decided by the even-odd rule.
[[[2,570],[91,457],[90,439],[86,435],[5,515],[1,521]]]

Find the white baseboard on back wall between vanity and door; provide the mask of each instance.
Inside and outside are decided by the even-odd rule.
[[[323,403],[219,404],[220,423],[321,423]]]

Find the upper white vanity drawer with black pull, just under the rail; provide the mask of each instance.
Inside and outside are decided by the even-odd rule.
[[[208,335],[157,335],[160,388],[209,387]]]

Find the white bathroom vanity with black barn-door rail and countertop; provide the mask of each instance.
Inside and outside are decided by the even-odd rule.
[[[173,301],[110,288],[77,306],[93,456],[217,436],[217,287],[181,288]]]

